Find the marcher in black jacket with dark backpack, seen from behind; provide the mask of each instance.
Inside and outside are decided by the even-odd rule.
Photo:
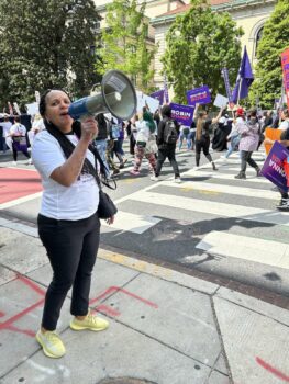
[[[164,105],[162,109],[162,116],[163,120],[159,122],[157,127],[157,146],[158,146],[158,153],[157,153],[157,163],[156,163],[156,171],[155,174],[151,177],[151,180],[158,181],[158,176],[160,173],[163,163],[165,162],[166,158],[168,158],[175,173],[175,182],[180,183],[180,173],[179,173],[179,167],[176,160],[176,143],[167,143],[166,139],[166,124],[167,122],[171,121],[171,109],[169,105]],[[179,135],[179,124],[174,121],[177,136]]]

